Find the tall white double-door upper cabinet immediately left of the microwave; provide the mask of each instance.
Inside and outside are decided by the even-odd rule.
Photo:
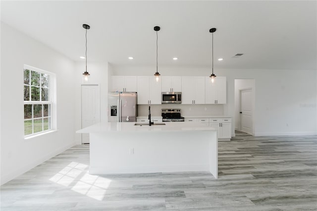
[[[154,76],[137,76],[138,104],[161,104],[161,81]]]

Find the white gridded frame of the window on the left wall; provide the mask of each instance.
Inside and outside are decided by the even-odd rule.
[[[39,68],[36,68],[36,67],[32,67],[32,66],[29,66],[29,65],[24,65],[24,68],[23,68],[23,74],[24,74],[24,71],[25,69],[29,70],[29,84],[24,84],[24,81],[23,81],[23,90],[24,90],[24,86],[28,86],[29,87],[29,100],[28,101],[24,101],[24,95],[23,95],[23,116],[25,115],[25,108],[24,106],[25,105],[31,105],[31,118],[23,118],[23,130],[24,130],[24,138],[29,138],[29,137],[32,137],[32,136],[37,136],[37,135],[41,135],[41,134],[45,134],[47,132],[50,132],[52,131],[53,129],[55,129],[54,127],[54,110],[55,110],[55,106],[54,106],[54,102],[55,102],[55,96],[54,96],[54,92],[53,92],[53,89],[54,89],[54,84],[55,84],[55,74],[52,73],[52,72],[48,72],[46,70],[42,70],[42,69],[39,69]],[[40,74],[47,74],[49,76],[49,80],[48,80],[48,87],[42,87],[42,84],[41,84],[41,81],[40,81],[40,85],[37,86],[37,85],[32,85],[32,81],[31,81],[31,72],[34,71],[34,72],[37,72],[37,73],[40,73]],[[40,75],[40,78],[41,78],[41,75]],[[40,89],[40,101],[32,101],[32,92],[31,92],[31,89],[32,87],[38,87]],[[48,96],[49,96],[49,99],[48,101],[42,101],[42,88],[48,88]],[[24,91],[23,91],[24,93]],[[42,115],[41,117],[34,117],[34,105],[42,105]],[[49,105],[49,109],[48,109],[48,116],[44,116],[44,106],[45,105]],[[45,118],[48,119],[48,129],[47,130],[44,130],[45,128],[45,124],[44,124],[44,120]],[[42,130],[40,132],[34,132],[34,120],[38,120],[38,119],[42,119]],[[31,134],[27,134],[25,135],[25,121],[27,120],[31,120],[32,122],[32,133]]]

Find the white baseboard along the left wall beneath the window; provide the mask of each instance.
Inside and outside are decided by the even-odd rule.
[[[74,145],[76,145],[75,141],[64,146],[64,147],[61,147],[57,150],[54,150],[52,153],[50,153],[42,158],[38,158],[38,159],[34,160],[32,163],[29,163],[28,165],[23,166],[23,168],[17,169],[17,170],[12,171],[8,174],[5,174],[4,176],[1,176],[0,185],[3,185],[4,183],[7,183],[8,181],[20,176],[21,174],[27,172],[28,170],[31,170],[32,168],[45,162],[46,160],[53,158],[54,156],[64,152],[65,150],[68,150],[69,148],[73,147]]]

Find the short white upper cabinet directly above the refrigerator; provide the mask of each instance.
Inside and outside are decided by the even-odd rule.
[[[111,92],[136,92],[137,76],[112,76]]]

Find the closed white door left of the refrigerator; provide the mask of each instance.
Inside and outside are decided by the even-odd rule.
[[[81,86],[81,128],[100,122],[99,85]],[[89,134],[82,133],[82,144],[89,143]]]

